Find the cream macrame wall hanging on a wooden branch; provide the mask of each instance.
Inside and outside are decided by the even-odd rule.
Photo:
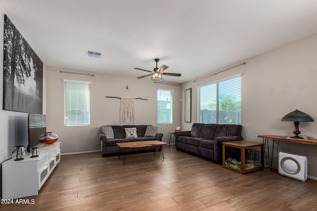
[[[148,100],[143,98],[121,98],[121,97],[110,97],[106,96],[108,98],[118,98],[120,99],[120,125],[123,124],[135,124],[135,100],[141,99],[141,100]]]

